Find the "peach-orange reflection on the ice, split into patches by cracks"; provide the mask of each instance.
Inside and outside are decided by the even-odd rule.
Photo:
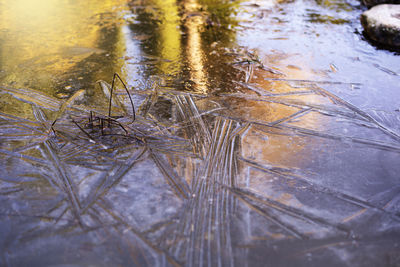
[[[312,80],[315,77],[312,70],[305,62],[297,62],[296,64],[292,57],[280,58],[275,55],[264,59],[264,62],[269,62],[274,66],[279,66],[279,68],[285,73],[285,79],[288,80]],[[294,68],[293,64],[301,67]],[[251,82],[271,93],[288,93],[310,90],[307,87],[294,88],[286,81],[269,81],[268,78],[275,78],[275,75],[264,70],[256,70],[254,72],[254,77],[255,78],[253,78]],[[327,101],[322,96],[313,93],[306,95],[289,95],[283,97],[283,99],[301,100],[305,103],[321,103],[322,101]],[[255,120],[273,123],[279,119],[288,117],[299,110],[300,109],[298,108],[282,104],[254,102],[251,104],[249,117]],[[295,125],[311,129],[314,127],[318,128],[318,125],[320,124],[319,120],[319,117],[316,116],[315,113],[311,112],[296,119],[297,122]],[[286,120],[284,122],[287,123],[288,121],[289,120]],[[306,140],[308,139],[291,135],[290,133],[288,133],[288,135],[266,135],[262,131],[255,130],[249,132],[248,136],[243,140],[243,155],[248,158],[254,158],[257,162],[268,162],[276,166],[296,168],[302,164],[306,164],[307,160],[310,158],[306,149],[309,144],[306,143]]]

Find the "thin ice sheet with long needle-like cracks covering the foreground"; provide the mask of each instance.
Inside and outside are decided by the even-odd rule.
[[[6,105],[20,107],[0,113],[2,262],[48,265],[60,253],[98,266],[361,264],[371,250],[393,258],[399,117],[367,113],[317,82],[270,82],[285,92],[248,81],[219,96],[132,89],[136,120],[132,99],[117,94],[110,103],[121,116],[108,129],[106,116],[101,132],[82,92],[60,101],[1,87]],[[44,251],[54,253],[37,256]]]

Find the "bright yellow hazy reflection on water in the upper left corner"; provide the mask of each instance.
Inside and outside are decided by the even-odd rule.
[[[110,52],[99,48],[101,29],[125,2],[1,0],[1,83],[42,90],[93,53]]]

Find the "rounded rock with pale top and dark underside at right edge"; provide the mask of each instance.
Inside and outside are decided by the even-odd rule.
[[[368,37],[390,46],[400,47],[400,5],[378,5],[361,15]]]

